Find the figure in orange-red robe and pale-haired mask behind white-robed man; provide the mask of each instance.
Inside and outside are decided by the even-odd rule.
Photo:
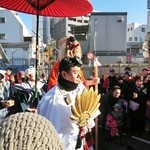
[[[58,61],[53,65],[53,67],[50,71],[48,85],[47,85],[47,91],[49,91],[54,85],[56,85],[57,79],[58,79],[58,74],[59,74],[59,71],[58,71],[59,64],[60,64],[60,61],[64,57],[66,57],[66,56],[69,56],[69,57],[78,56],[79,58],[82,57],[81,45],[75,39],[74,36],[62,38],[59,42],[59,45],[60,45],[60,52],[58,55]],[[89,87],[90,85],[95,85],[99,82],[99,79],[96,79],[96,78],[93,78],[92,80],[86,80],[82,70],[80,71],[79,76],[80,76],[81,82],[86,87]]]

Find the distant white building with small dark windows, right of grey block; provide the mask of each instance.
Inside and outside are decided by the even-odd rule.
[[[127,62],[143,63],[142,45],[147,34],[147,25],[130,23],[127,25]]]

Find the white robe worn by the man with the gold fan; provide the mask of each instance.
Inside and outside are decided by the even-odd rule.
[[[37,107],[38,114],[46,117],[57,130],[65,150],[75,150],[79,127],[70,119],[71,104],[75,103],[77,93],[82,93],[84,88],[83,84],[79,84],[74,91],[62,93],[56,85],[44,95]],[[65,97],[71,99],[71,104],[67,105]]]

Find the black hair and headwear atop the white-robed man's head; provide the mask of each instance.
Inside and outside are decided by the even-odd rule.
[[[61,71],[68,71],[71,67],[74,66],[82,66],[82,60],[75,56],[75,57],[65,57],[61,60],[59,65],[59,72]]]

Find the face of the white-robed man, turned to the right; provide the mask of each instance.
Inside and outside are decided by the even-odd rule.
[[[80,70],[81,70],[80,67],[75,66],[75,67],[72,67],[68,73],[65,71],[62,71],[62,76],[64,79],[78,84],[81,82],[79,78]]]

